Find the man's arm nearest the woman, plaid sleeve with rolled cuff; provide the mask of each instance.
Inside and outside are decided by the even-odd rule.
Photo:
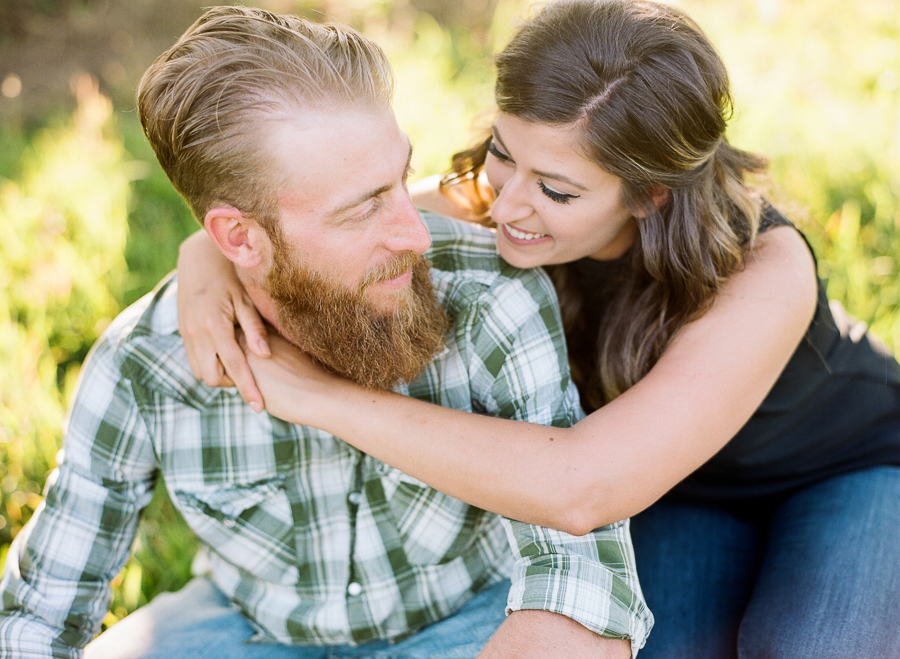
[[[489,414],[553,426],[579,418],[556,298],[546,277],[522,273],[501,285],[469,327],[460,343],[471,350],[473,394],[483,396]],[[600,646],[617,656],[627,645],[623,639],[631,648],[622,656],[643,646],[653,618],[637,580],[627,522],[585,536],[505,523],[515,557],[512,615],[486,652],[522,656],[509,643],[524,642],[519,634],[526,627],[532,638],[547,638],[546,648],[528,644],[535,656],[598,656]],[[563,652],[566,644],[570,650]],[[553,652],[547,654],[549,648]]]

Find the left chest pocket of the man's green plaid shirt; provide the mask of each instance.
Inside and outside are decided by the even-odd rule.
[[[297,578],[293,517],[284,477],[170,489],[200,541],[229,563],[278,584]]]

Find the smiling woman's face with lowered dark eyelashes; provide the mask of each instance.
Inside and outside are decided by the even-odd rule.
[[[585,256],[610,260],[634,243],[634,214],[622,181],[588,160],[579,132],[500,114],[485,173],[497,199],[497,249],[510,264],[533,268]]]

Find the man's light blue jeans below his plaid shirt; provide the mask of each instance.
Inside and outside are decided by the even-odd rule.
[[[205,578],[165,593],[101,634],[85,659],[474,659],[505,618],[509,582],[399,643],[359,646],[247,643],[254,630]]]

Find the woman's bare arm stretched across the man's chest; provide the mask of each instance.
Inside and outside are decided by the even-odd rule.
[[[815,303],[803,239],[768,231],[646,377],[569,429],[362,389],[275,337],[274,359],[250,362],[275,416],[327,430],[481,508],[583,534],[640,512],[722,448],[774,385]]]

